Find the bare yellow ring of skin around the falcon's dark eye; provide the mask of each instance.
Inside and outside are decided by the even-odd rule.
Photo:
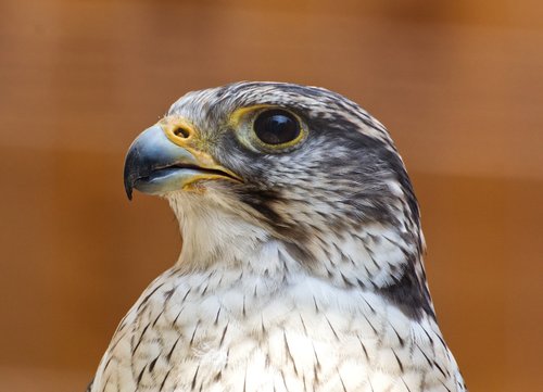
[[[265,110],[274,109],[286,111],[294,116],[294,118],[296,118],[298,123],[300,124],[300,135],[295,139],[290,140],[286,143],[268,144],[263,142],[255,135],[253,125],[256,116]],[[307,127],[296,114],[292,113],[289,110],[275,105],[261,104],[240,108],[232,112],[230,118],[228,119],[228,125],[236,130],[236,136],[243,143],[243,146],[256,152],[283,152],[285,150],[289,150],[292,147],[299,144],[307,137]]]

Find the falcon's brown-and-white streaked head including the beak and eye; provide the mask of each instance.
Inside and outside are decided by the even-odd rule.
[[[165,197],[184,246],[207,238],[217,254],[217,241],[279,241],[315,274],[377,288],[420,264],[418,205],[389,134],[323,88],[238,83],[187,93],[134,141],[125,188],[128,198],[134,188]],[[333,257],[366,271],[323,267]],[[424,271],[413,274],[424,284]]]

